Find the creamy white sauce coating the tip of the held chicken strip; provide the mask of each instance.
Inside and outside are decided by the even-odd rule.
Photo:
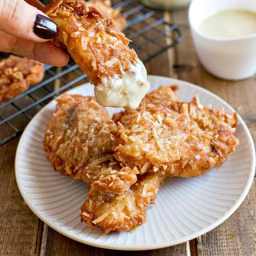
[[[135,65],[130,63],[129,70],[122,72],[121,76],[101,79],[94,91],[97,101],[104,107],[137,109],[149,91],[147,70],[138,59]]]

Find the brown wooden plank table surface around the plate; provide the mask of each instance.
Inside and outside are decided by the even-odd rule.
[[[148,73],[195,83],[219,95],[243,117],[256,139],[256,78],[223,81],[209,75],[197,59],[187,11],[165,13],[183,31],[183,41],[147,63]],[[40,221],[24,203],[15,181],[19,138],[0,147],[0,255],[256,255],[256,183],[242,205],[219,227],[187,243],[151,251],[111,251],[73,241]]]

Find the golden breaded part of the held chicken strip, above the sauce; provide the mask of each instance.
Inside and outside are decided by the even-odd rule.
[[[48,5],[47,15],[57,23],[57,40],[89,77],[93,85],[101,78],[121,75],[129,63],[137,63],[129,39],[121,33],[105,13],[89,7],[83,0],[57,0]]]

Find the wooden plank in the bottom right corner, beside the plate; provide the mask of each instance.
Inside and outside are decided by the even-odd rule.
[[[256,182],[245,201],[219,227],[199,237],[197,254],[199,256],[256,255]]]

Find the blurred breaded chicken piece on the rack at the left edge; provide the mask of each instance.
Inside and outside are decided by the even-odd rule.
[[[41,82],[43,63],[11,55],[0,62],[0,104]]]

